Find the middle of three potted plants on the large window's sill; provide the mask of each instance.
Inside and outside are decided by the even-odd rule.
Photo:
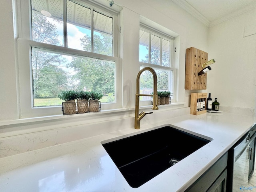
[[[91,93],[88,91],[79,91],[77,98],[77,110],[78,113],[89,112],[88,100],[91,97]]]

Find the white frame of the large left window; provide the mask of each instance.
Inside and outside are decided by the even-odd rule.
[[[17,38],[17,55],[18,55],[18,76],[19,76],[19,105],[20,105],[20,118],[31,118],[39,116],[60,115],[62,114],[62,106],[33,106],[33,86],[32,86],[32,65],[31,65],[31,47],[47,50],[57,54],[66,54],[69,56],[90,57],[102,60],[113,61],[116,63],[115,72],[115,96],[116,102],[102,103],[101,110],[110,110],[121,108],[122,106],[122,79],[121,62],[118,58],[118,12],[104,8],[88,1],[72,0],[82,6],[93,8],[93,10],[100,12],[106,16],[113,18],[112,31],[113,31],[113,56],[101,55],[93,52],[86,52],[82,50],[75,50],[64,46],[56,46],[45,44],[32,40],[32,25],[31,25],[31,1],[22,0],[18,1],[18,38]],[[118,94],[117,94],[118,93]]]

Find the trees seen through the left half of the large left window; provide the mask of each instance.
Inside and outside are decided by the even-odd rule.
[[[56,20],[57,22],[57,20]],[[37,42],[60,45],[55,24],[41,14],[32,12],[32,39]],[[67,83],[68,74],[58,66],[66,60],[60,54],[32,48],[34,98],[56,98]]]

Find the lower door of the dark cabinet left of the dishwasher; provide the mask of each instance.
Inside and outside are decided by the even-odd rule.
[[[227,169],[222,172],[218,179],[210,186],[206,192],[226,192]]]

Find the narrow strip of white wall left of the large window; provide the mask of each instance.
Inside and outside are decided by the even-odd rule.
[[[0,1],[0,120],[17,119],[12,1]]]

